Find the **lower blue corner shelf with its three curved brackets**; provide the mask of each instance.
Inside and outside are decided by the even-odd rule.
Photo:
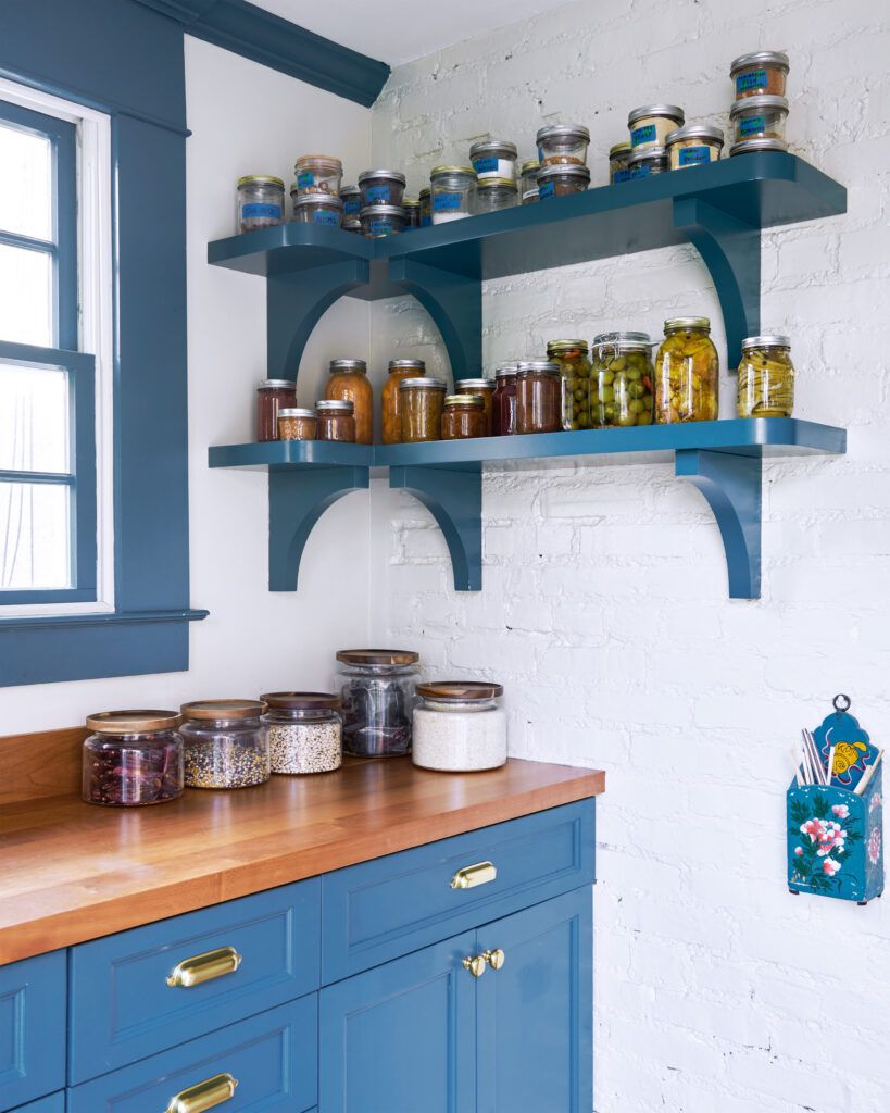
[[[654,453],[670,459],[714,512],[733,599],[760,597],[761,469],[764,457],[847,451],[847,433],[795,417],[734,418],[683,425],[582,430],[425,444],[360,445],[271,441],[219,445],[210,467],[269,472],[269,589],[296,590],[303,549],[318,518],[349,491],[366,487],[372,467],[409,491],[438,522],[458,591],[482,588],[482,469],[541,466],[548,459]]]

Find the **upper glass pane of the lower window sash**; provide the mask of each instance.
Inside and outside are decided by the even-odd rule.
[[[0,362],[0,470],[71,470],[67,372]]]

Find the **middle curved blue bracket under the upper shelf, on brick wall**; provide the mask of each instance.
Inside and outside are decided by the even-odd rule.
[[[389,280],[416,297],[436,323],[455,380],[481,375],[481,280],[408,258],[390,260]]]

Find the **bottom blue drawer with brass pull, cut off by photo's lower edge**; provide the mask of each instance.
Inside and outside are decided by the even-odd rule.
[[[251,1016],[68,1091],[68,1113],[160,1113],[218,1075],[220,1113],[303,1113],[317,1101],[318,995]],[[209,1106],[208,1106],[209,1107]]]

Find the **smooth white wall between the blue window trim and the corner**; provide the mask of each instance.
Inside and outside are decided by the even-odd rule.
[[[244,174],[293,178],[305,150],[343,154],[355,180],[370,160],[369,112],[197,39],[186,38],[188,125],[188,357],[191,624],[188,672],[8,688],[2,733],[51,730],[116,707],[255,697],[327,687],[334,652],[367,636],[367,492],[347,495],[306,546],[299,591],[270,593],[265,472],[210,471],[207,447],[253,440],[254,398],[266,375],[265,283],[207,265],[207,243],[234,233]],[[345,299],[319,323],[300,366],[298,396],[317,396],[327,361],[365,356],[369,311]]]

